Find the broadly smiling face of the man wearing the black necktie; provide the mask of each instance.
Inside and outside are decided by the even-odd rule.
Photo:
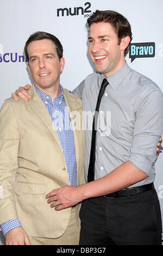
[[[96,70],[109,77],[125,64],[124,50],[130,41],[129,36],[121,39],[108,22],[92,23],[89,35],[89,54]]]

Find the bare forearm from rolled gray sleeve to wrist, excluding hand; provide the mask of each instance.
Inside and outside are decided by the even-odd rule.
[[[87,198],[104,196],[122,190],[146,178],[145,172],[127,161],[103,178],[79,186],[80,202]]]

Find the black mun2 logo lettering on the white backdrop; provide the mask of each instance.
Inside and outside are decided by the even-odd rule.
[[[90,2],[86,2],[85,7],[70,7],[70,8],[59,8],[57,9],[57,17],[59,16],[77,16],[77,15],[84,15],[84,17],[90,17],[92,15],[91,13],[91,3]]]

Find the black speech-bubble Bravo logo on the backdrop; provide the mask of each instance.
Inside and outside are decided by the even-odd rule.
[[[130,44],[129,58],[131,62],[136,58],[153,58],[155,56],[155,42],[136,42]]]

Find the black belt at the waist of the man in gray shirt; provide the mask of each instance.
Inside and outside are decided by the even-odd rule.
[[[119,190],[115,193],[106,194],[104,197],[117,198],[117,197],[134,196],[135,194],[145,192],[148,190],[152,190],[152,188],[154,188],[153,183],[147,184],[147,185],[142,185],[139,187],[123,188],[123,190]]]

